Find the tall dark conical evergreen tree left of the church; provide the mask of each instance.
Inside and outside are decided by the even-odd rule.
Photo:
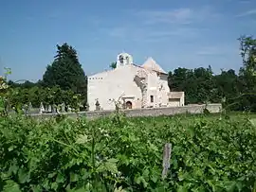
[[[76,50],[64,43],[57,44],[57,55],[51,65],[47,65],[43,76],[45,87],[59,86],[62,90],[71,90],[81,94],[86,102],[87,78],[79,62]]]

